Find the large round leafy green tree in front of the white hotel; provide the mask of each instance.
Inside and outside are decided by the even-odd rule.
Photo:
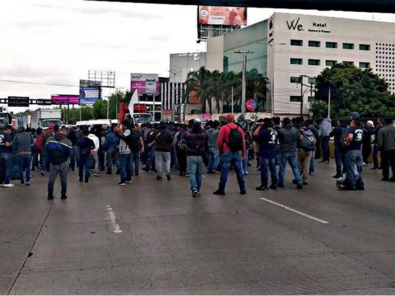
[[[316,100],[328,102],[331,89],[331,117],[342,118],[357,111],[362,117],[395,115],[394,96],[388,83],[372,69],[336,64],[316,79]]]

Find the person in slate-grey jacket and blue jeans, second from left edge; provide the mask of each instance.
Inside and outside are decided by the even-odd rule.
[[[21,187],[30,185],[30,168],[32,161],[32,147],[34,140],[25,131],[24,126],[18,127],[18,134],[12,141],[12,151],[16,153],[19,165],[19,179],[21,181]],[[26,171],[26,182],[23,176],[23,172]]]

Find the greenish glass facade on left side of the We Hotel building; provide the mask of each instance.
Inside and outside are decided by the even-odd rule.
[[[243,54],[235,51],[250,51],[247,56],[247,71],[256,69],[267,76],[267,21],[263,21],[224,36],[224,73],[242,71]]]

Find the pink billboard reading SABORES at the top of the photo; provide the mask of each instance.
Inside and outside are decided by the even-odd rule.
[[[199,25],[247,26],[247,7],[198,6]]]

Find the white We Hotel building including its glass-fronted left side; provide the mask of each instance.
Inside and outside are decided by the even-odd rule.
[[[267,111],[300,114],[303,77],[303,113],[309,114],[314,93],[310,83],[335,63],[372,68],[395,92],[395,24],[335,17],[274,13],[272,17],[221,37],[207,40],[209,70],[240,72],[242,54],[247,70],[269,78]],[[308,77],[307,77],[308,76]]]

